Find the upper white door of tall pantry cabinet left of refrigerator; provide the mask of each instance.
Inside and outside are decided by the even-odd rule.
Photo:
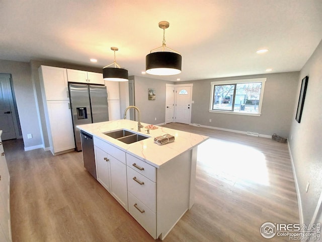
[[[41,66],[39,78],[45,100],[69,100],[66,69]]]

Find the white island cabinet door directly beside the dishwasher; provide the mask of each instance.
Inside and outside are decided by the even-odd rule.
[[[110,172],[110,160],[105,151],[94,146],[95,162],[96,162],[96,179],[99,183],[110,193],[111,192],[111,172]]]

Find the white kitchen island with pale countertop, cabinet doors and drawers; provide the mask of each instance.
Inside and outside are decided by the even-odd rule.
[[[154,239],[164,239],[194,204],[197,147],[208,137],[158,126],[147,134],[137,125],[120,119],[77,128],[93,136],[97,180]],[[127,144],[109,136],[124,130],[145,139]],[[165,134],[175,141],[154,143]]]

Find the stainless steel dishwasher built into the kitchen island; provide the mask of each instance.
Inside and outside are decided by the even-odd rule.
[[[83,160],[85,168],[96,179],[95,153],[93,136],[81,130]]]

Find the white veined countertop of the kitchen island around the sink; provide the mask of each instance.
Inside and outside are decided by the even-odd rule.
[[[148,124],[141,123],[144,127]],[[209,137],[188,133],[184,131],[169,129],[156,126],[157,129],[150,130],[147,134],[146,128],[141,128],[141,132],[137,131],[137,122],[128,119],[112,120],[108,122],[78,125],[78,129],[83,130],[96,138],[99,138],[123,151],[129,153],[156,168],[160,168],[163,164],[176,156],[190,150]],[[104,133],[125,129],[134,133],[148,136],[145,140],[141,140],[132,144],[126,144],[114,138],[111,138]],[[175,141],[165,145],[157,145],[154,143],[154,137],[170,134],[175,136]]]

